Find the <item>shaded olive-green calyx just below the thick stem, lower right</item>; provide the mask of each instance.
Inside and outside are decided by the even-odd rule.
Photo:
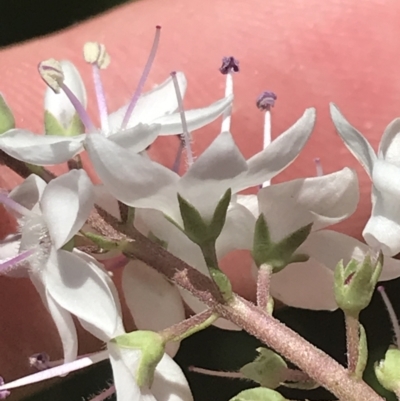
[[[259,355],[253,362],[244,365],[240,372],[262,387],[277,388],[285,380],[286,362],[267,348],[257,348]]]

